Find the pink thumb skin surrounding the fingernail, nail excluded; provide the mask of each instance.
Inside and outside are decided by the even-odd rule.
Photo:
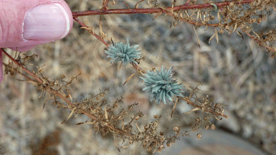
[[[72,12],[64,0],[0,0],[0,48],[24,46],[24,48],[18,48],[18,51],[22,51],[21,49],[28,49],[33,45],[54,41],[28,40],[22,34],[26,12],[36,5],[47,3],[59,3],[64,7],[70,17],[71,30],[73,25]]]

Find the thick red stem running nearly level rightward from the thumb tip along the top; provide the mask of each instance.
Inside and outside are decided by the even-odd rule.
[[[253,2],[254,0],[243,0],[241,3],[236,3],[236,4],[246,4]],[[236,1],[228,1],[228,2],[218,2],[214,3],[217,5],[218,8],[221,8],[223,6],[229,5],[231,2],[236,2]],[[188,9],[200,9],[200,8],[210,8],[213,7],[208,4],[195,4],[195,5],[179,5],[179,6],[174,6],[174,7],[166,7],[166,9],[170,10],[173,9],[174,11],[177,10],[188,10]],[[130,8],[130,9],[98,9],[98,10],[88,10],[88,11],[80,11],[80,12],[72,12],[73,17],[78,17],[78,16],[85,16],[85,15],[105,15],[105,14],[133,14],[133,13],[158,13],[161,12],[162,8]]]

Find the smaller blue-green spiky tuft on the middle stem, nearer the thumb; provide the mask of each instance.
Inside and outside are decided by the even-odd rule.
[[[105,50],[105,53],[108,54],[107,58],[111,58],[110,64],[112,61],[114,61],[114,63],[122,61],[123,65],[137,63],[134,59],[140,58],[139,54],[142,54],[141,52],[138,52],[140,49],[136,50],[139,45],[130,47],[128,38],[126,38],[126,40],[126,44],[123,44],[121,41],[118,43],[115,42],[114,46],[109,45],[108,51]]]

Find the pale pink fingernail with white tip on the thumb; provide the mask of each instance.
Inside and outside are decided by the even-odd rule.
[[[27,12],[23,37],[32,40],[58,40],[64,38],[69,30],[69,16],[62,5],[41,4]]]

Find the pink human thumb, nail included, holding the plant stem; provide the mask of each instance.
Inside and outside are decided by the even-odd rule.
[[[64,0],[4,1],[0,0],[0,48],[27,51],[66,37],[72,28],[72,12]]]

